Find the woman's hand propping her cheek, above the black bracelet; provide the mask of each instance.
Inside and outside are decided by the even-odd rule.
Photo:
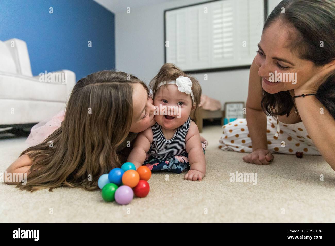
[[[335,72],[335,61],[331,64],[325,65],[325,67],[312,78],[310,78],[305,84],[294,89],[294,95],[300,96],[302,94],[316,94],[320,85],[325,81],[325,79]]]

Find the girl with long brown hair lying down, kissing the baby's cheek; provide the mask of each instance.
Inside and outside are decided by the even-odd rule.
[[[27,173],[27,183],[18,187],[29,191],[97,189],[99,176],[120,166],[127,141],[155,123],[154,109],[147,86],[135,76],[90,74],[74,86],[61,126],[23,151],[6,171]]]

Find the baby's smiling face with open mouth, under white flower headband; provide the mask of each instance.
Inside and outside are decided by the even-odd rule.
[[[175,84],[159,87],[153,105],[156,107],[156,122],[167,130],[183,125],[194,108],[191,95],[179,91]]]

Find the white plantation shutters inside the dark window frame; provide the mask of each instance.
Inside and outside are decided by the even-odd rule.
[[[166,62],[186,71],[250,65],[263,22],[263,0],[220,0],[167,10]]]

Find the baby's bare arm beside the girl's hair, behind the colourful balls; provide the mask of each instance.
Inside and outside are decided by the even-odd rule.
[[[146,153],[149,151],[152,143],[152,130],[149,127],[147,130],[139,133],[135,139],[134,146],[130,152],[127,161],[135,165],[136,169],[142,166],[145,161]]]

